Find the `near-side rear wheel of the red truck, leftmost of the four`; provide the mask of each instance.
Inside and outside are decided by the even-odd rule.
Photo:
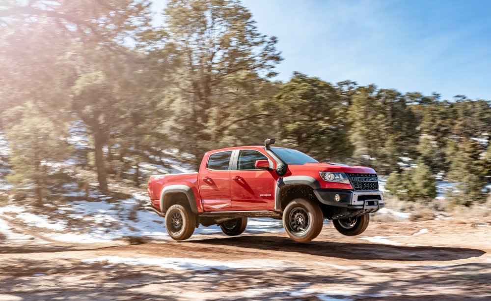
[[[165,229],[176,241],[184,241],[191,237],[196,228],[196,216],[189,208],[172,205],[165,213]]]

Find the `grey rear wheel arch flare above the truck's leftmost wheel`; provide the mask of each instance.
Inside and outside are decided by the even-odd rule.
[[[162,189],[160,195],[160,211],[164,212],[174,204],[189,205],[191,211],[198,213],[196,197],[192,188],[187,185],[169,185]]]

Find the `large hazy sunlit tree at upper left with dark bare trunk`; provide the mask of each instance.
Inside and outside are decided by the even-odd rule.
[[[0,85],[4,88],[0,97],[15,103],[35,95],[38,109],[69,112],[58,118],[82,120],[94,142],[99,186],[107,190],[103,149],[111,138],[120,136],[120,122],[131,114],[126,104],[148,96],[146,91],[155,96],[161,88],[159,77],[135,83],[135,78],[142,78],[138,74],[148,71],[141,59],[146,50],[126,46],[144,44],[152,31],[151,3],[32,0],[8,4],[1,7],[0,18],[6,18],[0,21],[22,26],[8,27],[10,38],[0,41],[8,46],[1,47],[0,62],[3,66],[5,55],[5,71],[11,75],[0,78],[0,84],[5,84]],[[165,60],[156,60],[153,68],[163,65]]]

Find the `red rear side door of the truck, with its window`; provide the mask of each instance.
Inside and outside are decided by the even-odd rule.
[[[198,185],[205,211],[227,211],[230,198],[230,157],[232,151],[220,151],[208,156],[201,164]]]

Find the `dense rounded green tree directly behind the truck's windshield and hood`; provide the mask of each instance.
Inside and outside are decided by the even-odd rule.
[[[351,155],[345,124],[347,105],[329,83],[295,72],[274,99],[282,145],[323,161]]]

